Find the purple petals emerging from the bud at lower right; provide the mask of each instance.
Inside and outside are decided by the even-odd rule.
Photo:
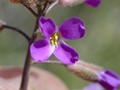
[[[120,87],[120,77],[113,71],[105,70],[98,73],[100,83],[106,90],[117,90]]]

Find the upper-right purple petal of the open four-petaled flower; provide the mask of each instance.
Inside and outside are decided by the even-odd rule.
[[[74,40],[82,38],[84,36],[85,27],[81,19],[73,17],[66,20],[59,27],[59,32],[61,33],[64,39]]]

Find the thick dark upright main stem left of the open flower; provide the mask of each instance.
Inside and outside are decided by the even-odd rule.
[[[28,45],[28,49],[27,49],[27,55],[26,55],[25,64],[24,64],[24,68],[23,68],[21,86],[20,86],[19,90],[27,90],[29,72],[30,72],[30,67],[31,67],[31,63],[32,63],[31,55],[30,55],[30,45],[35,41],[35,39],[37,37],[37,34],[35,34],[35,32],[39,28],[39,18],[43,15],[44,10],[47,8],[47,4],[44,6],[43,9],[42,9],[42,7],[39,7],[37,9],[38,10],[37,11],[38,17],[36,17],[36,24],[35,24],[35,27],[34,27],[34,30],[33,30],[31,40],[29,41],[29,45]],[[28,8],[28,7],[26,7],[26,8]],[[31,9],[29,9],[29,8],[28,8],[28,10],[31,11]],[[32,14],[34,14],[34,13],[32,13]]]

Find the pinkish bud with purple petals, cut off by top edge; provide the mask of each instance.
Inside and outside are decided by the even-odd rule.
[[[101,0],[60,0],[60,4],[63,6],[73,6],[83,2],[91,7],[96,8],[100,5]]]

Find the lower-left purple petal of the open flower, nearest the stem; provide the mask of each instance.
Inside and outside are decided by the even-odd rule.
[[[38,40],[31,44],[30,53],[35,62],[43,62],[47,60],[54,51],[54,46],[51,46],[46,40]]]

